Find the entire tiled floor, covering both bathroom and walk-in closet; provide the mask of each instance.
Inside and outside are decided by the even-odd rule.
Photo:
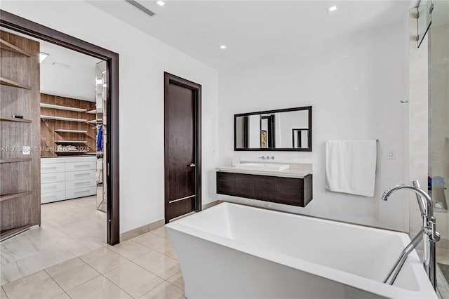
[[[109,246],[105,214],[88,197],[43,205],[42,219],[0,244],[0,299],[185,298],[164,227]]]

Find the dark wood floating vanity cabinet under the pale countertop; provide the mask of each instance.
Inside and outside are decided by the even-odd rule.
[[[217,171],[217,193],[304,207],[312,199],[312,175],[284,178]]]

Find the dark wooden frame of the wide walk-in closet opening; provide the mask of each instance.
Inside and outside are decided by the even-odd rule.
[[[119,54],[3,10],[0,25],[107,61],[107,244],[119,244]]]

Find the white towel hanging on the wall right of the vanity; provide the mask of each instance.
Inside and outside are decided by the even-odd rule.
[[[334,192],[374,196],[376,140],[326,142],[326,188]]]

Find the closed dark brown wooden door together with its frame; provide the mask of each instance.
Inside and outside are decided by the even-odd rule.
[[[199,211],[201,86],[165,74],[165,221]]]

